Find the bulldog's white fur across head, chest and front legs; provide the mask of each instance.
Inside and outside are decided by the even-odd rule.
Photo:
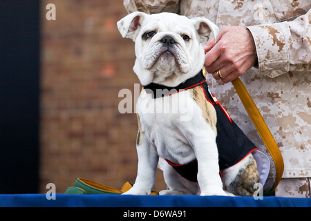
[[[135,41],[137,59],[133,70],[142,85],[153,82],[177,86],[194,77],[205,59],[200,43],[207,41],[210,33],[216,39],[218,32],[217,26],[208,19],[188,19],[171,13],[133,12],[118,21],[117,27],[122,37]],[[144,33],[150,31],[156,35],[144,39]],[[188,35],[190,40],[184,41],[182,35]],[[160,42],[164,37],[172,37],[176,44],[162,54],[167,50]],[[138,175],[125,194],[151,193],[159,163],[169,187],[160,194],[227,195],[219,176],[216,134],[202,117],[191,90],[157,99],[142,90],[137,110],[143,135],[140,137],[142,142],[137,145]],[[197,159],[198,184],[181,177],[162,158],[175,164],[187,164]]]

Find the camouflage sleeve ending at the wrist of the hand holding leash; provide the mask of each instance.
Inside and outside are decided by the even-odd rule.
[[[277,77],[311,71],[311,10],[294,21],[248,26],[256,44],[259,73]]]

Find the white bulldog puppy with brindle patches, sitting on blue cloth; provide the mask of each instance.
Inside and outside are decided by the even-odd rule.
[[[218,27],[204,17],[188,19],[167,12],[133,12],[118,21],[117,27],[122,37],[135,41],[137,59],[133,70],[141,84],[145,88],[152,85],[169,90],[160,97],[142,90],[138,99],[138,175],[133,187],[124,194],[151,193],[159,166],[168,186],[160,192],[163,195],[253,195],[254,184],[260,178],[263,182],[266,179],[258,174],[252,155],[255,148],[220,171],[216,144],[218,114],[214,108],[218,102],[208,99],[202,80],[187,87],[196,76],[202,78],[198,74],[205,60],[201,43],[211,34],[216,39]],[[184,88],[179,90],[182,85]],[[177,89],[172,92],[172,88]],[[188,117],[182,120],[185,115]],[[178,172],[178,166],[193,162],[197,165],[196,180],[189,180]]]

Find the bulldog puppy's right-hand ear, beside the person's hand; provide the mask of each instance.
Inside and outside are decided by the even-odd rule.
[[[214,40],[216,42],[216,37],[219,30],[216,24],[209,21],[209,19],[206,19],[205,17],[196,17],[191,19],[191,21],[194,23],[194,28],[196,28],[196,31],[200,36],[201,43],[207,42],[211,33],[213,33]]]

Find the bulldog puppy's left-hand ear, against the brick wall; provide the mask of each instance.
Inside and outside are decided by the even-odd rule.
[[[136,36],[142,26],[144,19],[149,16],[144,12],[133,12],[126,15],[120,21],[117,21],[117,28],[119,29],[122,37],[127,37],[135,41]]]

